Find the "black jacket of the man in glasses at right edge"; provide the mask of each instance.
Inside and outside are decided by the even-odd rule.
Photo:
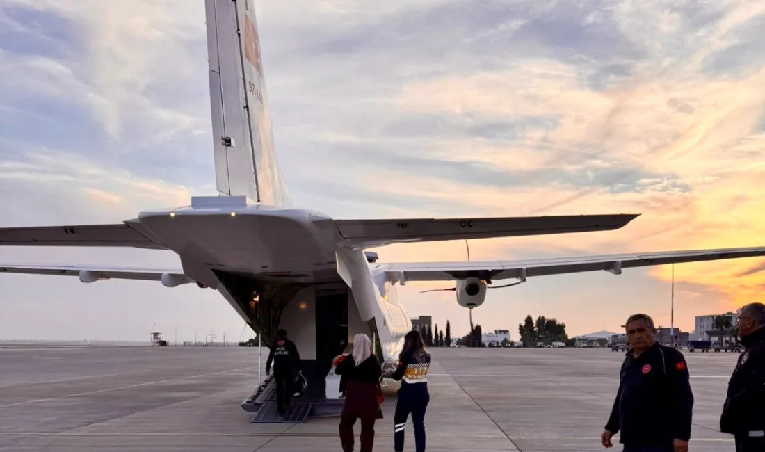
[[[728,381],[720,430],[734,435],[765,430],[765,327],[741,337],[746,347]]]

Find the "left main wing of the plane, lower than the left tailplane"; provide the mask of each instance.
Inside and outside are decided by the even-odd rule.
[[[27,275],[77,276],[83,282],[105,279],[133,279],[161,281],[163,285],[175,287],[195,282],[178,268],[107,267],[103,265],[34,265],[0,264],[0,274],[21,273]]]

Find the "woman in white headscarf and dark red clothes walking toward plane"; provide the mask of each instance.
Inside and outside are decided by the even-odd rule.
[[[379,418],[380,387],[382,375],[372,341],[366,334],[353,337],[353,353],[343,356],[335,367],[342,376],[345,389],[345,405],[340,414],[340,442],[343,450],[353,450],[353,425],[361,419],[361,452],[372,452],[375,441],[375,421]]]

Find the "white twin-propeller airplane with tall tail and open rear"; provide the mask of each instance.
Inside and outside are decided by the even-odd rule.
[[[301,358],[331,360],[356,333],[373,337],[392,369],[412,330],[397,289],[409,281],[454,281],[457,304],[483,304],[494,281],[576,272],[735,259],[765,247],[591,255],[489,262],[383,263],[369,249],[393,243],[613,231],[638,215],[334,219],[292,205],[278,167],[252,0],[205,0],[217,196],[138,213],[122,223],[0,229],[2,246],[97,246],[175,252],[181,268],[0,264],[0,272],[192,284],[220,292],[270,345],[285,328]],[[252,408],[256,398],[248,398]],[[328,395],[327,398],[330,398]],[[247,402],[247,401],[246,401]],[[252,402],[252,403],[250,403]]]

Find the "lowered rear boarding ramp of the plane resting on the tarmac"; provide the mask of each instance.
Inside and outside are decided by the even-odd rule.
[[[327,374],[332,368],[331,363],[319,363],[316,360],[303,360],[301,372],[308,383],[303,397],[291,397],[291,405],[286,408],[284,416],[279,416],[276,410],[276,382],[273,374],[268,376],[244,402],[244,411],[254,413],[253,424],[302,424],[308,418],[327,418],[339,416],[343,410],[343,399],[327,397]],[[332,382],[339,376],[330,376]],[[334,384],[330,386],[334,388]],[[330,391],[334,392],[334,391]],[[337,395],[339,396],[339,395]]]

